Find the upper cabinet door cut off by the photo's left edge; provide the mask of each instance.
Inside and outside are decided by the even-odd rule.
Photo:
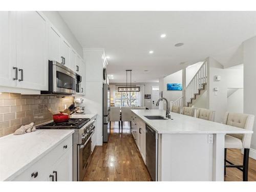
[[[15,31],[15,12],[0,11],[0,86],[16,86]]]

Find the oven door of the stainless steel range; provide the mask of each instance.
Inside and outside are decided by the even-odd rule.
[[[86,170],[88,168],[88,165],[91,161],[91,145],[92,140],[87,140],[87,142],[83,145],[78,145],[78,173],[79,173],[79,179],[78,181],[82,181],[84,175],[86,174]]]

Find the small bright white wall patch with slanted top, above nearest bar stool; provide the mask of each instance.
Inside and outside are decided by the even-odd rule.
[[[244,89],[238,89],[227,97],[227,111],[233,113],[244,112]]]

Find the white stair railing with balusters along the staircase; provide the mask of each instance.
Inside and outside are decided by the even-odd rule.
[[[195,97],[199,89],[203,88],[203,84],[207,83],[207,61],[204,61],[195,76],[191,79],[186,87],[186,103]]]

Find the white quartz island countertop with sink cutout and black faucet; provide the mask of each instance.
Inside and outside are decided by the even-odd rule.
[[[207,121],[178,113],[171,113],[172,119],[150,120],[146,116],[161,115],[165,117],[164,110],[132,110],[146,124],[150,125],[158,134],[251,134],[253,131],[238,127]]]

